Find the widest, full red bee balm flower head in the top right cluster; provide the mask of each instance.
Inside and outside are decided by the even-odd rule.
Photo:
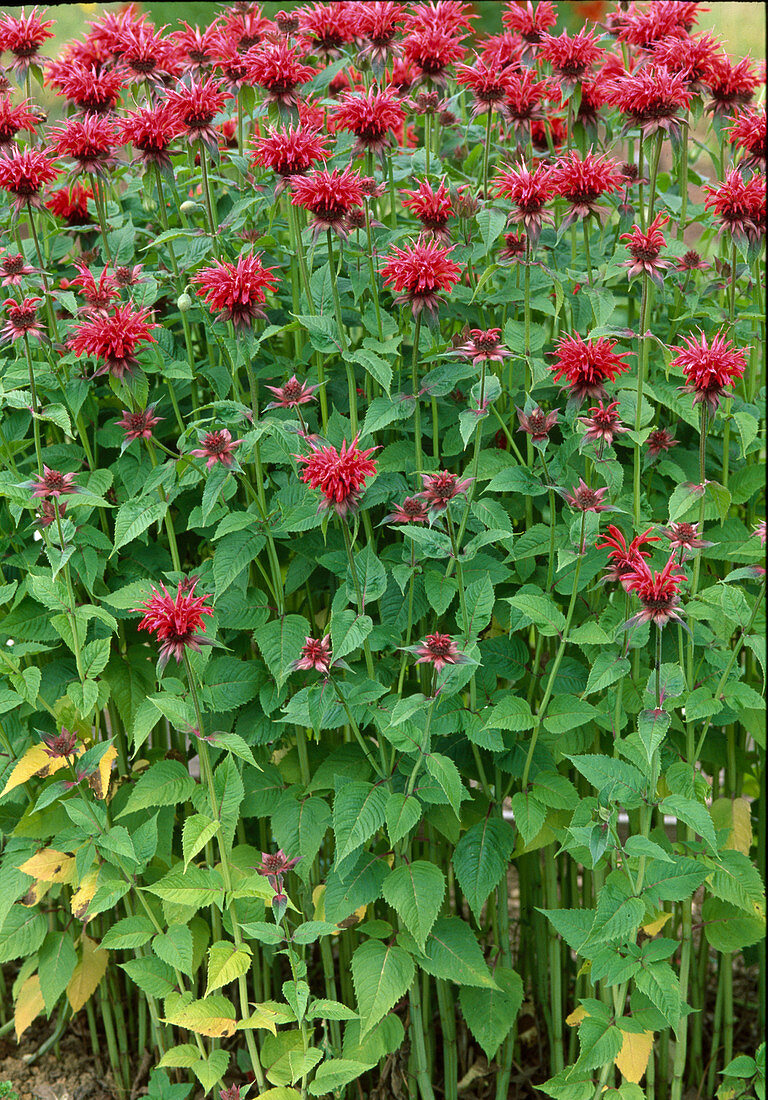
[[[690,107],[693,91],[679,73],[662,65],[617,77],[606,85],[607,101],[626,117],[626,129],[639,129],[643,136],[666,130],[680,134],[680,111]]]

